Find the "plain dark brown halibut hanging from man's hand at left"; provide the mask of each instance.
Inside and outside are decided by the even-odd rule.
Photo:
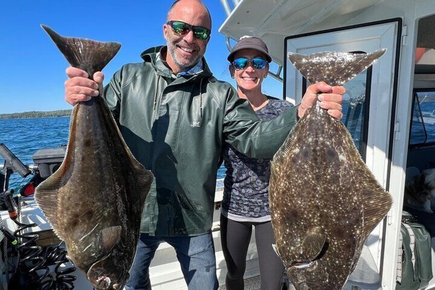
[[[42,27],[71,66],[89,78],[121,48]],[[36,188],[35,199],[65,241],[68,258],[96,289],[122,289],[128,281],[152,180],[151,171],[132,156],[103,98],[74,106],[65,159]]]

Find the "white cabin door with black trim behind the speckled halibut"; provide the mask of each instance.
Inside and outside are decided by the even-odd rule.
[[[378,62],[345,85],[347,93],[343,101],[344,117],[342,119],[367,166],[387,190],[391,167],[392,133],[394,132],[391,120],[394,120],[396,106],[401,28],[401,18],[395,18],[289,36],[284,41],[284,96],[294,104],[301,102],[302,95],[309,84],[289,62],[288,52],[302,54],[321,51],[372,52],[387,48],[386,53]],[[396,265],[393,263],[396,259],[392,257],[397,255],[397,250],[391,245],[396,244],[398,233],[396,229],[397,225],[400,225],[401,209],[396,208],[397,204],[399,203],[394,202],[387,219],[373,230],[366,241],[367,247],[364,252],[368,253],[367,262],[375,265],[374,268],[377,269],[375,274],[379,280],[377,282],[379,288],[381,279],[383,288],[394,288],[392,281],[396,278]],[[367,265],[366,268],[368,268]],[[368,277],[369,275],[363,273],[363,276]],[[356,289],[353,286],[369,288],[369,285],[364,285],[364,283],[355,282],[353,286],[349,285],[351,280],[352,276],[345,288]],[[376,282],[371,281],[371,283],[374,286]]]

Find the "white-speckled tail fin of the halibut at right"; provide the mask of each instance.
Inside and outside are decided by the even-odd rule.
[[[386,48],[371,53],[323,51],[308,55],[289,52],[288,58],[311,84],[326,82],[342,86],[371,66],[385,51]]]

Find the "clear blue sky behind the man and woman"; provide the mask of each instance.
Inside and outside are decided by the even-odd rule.
[[[217,79],[235,85],[228,72],[225,37],[217,31],[225,20],[224,10],[218,0],[203,2],[213,21],[206,60]],[[65,36],[120,42],[120,52],[103,70],[107,84],[123,64],[141,62],[143,50],[165,44],[162,26],[171,4],[170,0],[4,2],[0,17],[0,113],[70,108],[64,101],[68,64],[39,25],[48,25]],[[267,78],[263,92],[281,98],[282,85]]]

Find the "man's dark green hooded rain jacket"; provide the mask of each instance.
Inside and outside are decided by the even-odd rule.
[[[230,84],[212,76],[204,59],[202,72],[174,79],[156,53],[142,58],[124,65],[104,89],[131,152],[155,177],[141,232],[209,233],[223,143],[253,158],[271,158],[295,124],[297,109],[262,123]]]

